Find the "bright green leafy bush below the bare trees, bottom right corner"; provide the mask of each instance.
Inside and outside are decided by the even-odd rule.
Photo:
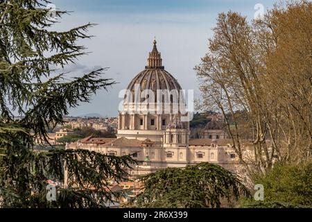
[[[242,207],[312,207],[312,163],[275,164],[266,176],[257,176],[264,187],[264,202],[243,201]]]

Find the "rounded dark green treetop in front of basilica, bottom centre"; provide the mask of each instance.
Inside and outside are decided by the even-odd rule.
[[[216,164],[167,168],[141,178],[144,191],[132,200],[137,207],[221,207],[221,200],[250,196],[239,178]]]

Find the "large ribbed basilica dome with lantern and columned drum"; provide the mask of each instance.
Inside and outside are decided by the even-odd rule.
[[[145,69],[131,80],[125,90],[119,110],[117,138],[150,139],[160,143],[168,130],[169,133],[175,133],[177,142],[183,141],[185,144],[188,135],[184,131],[189,129],[188,121],[182,123],[189,114],[185,92],[181,92],[177,79],[164,69],[156,44],[154,40]],[[169,141],[168,138],[166,141]]]

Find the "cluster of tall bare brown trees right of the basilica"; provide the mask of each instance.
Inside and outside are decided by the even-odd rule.
[[[252,23],[237,12],[221,13],[209,52],[195,68],[201,108],[223,113],[250,173],[311,157],[311,15],[308,1],[275,6]],[[243,156],[248,142],[252,163]]]

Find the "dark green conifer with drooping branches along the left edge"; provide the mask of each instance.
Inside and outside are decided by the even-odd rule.
[[[53,31],[49,1],[0,2],[0,206],[105,207],[120,194],[107,189],[121,181],[134,163],[130,156],[112,157],[81,150],[33,151],[34,138],[47,141],[47,130],[63,124],[70,108],[89,102],[98,89],[114,81],[104,69],[69,78],[53,67],[64,67],[85,54],[78,40],[93,24]],[[57,10],[59,19],[67,12]],[[21,119],[15,119],[14,114]],[[33,135],[31,135],[33,133]],[[47,202],[47,180],[57,187],[57,201]]]

